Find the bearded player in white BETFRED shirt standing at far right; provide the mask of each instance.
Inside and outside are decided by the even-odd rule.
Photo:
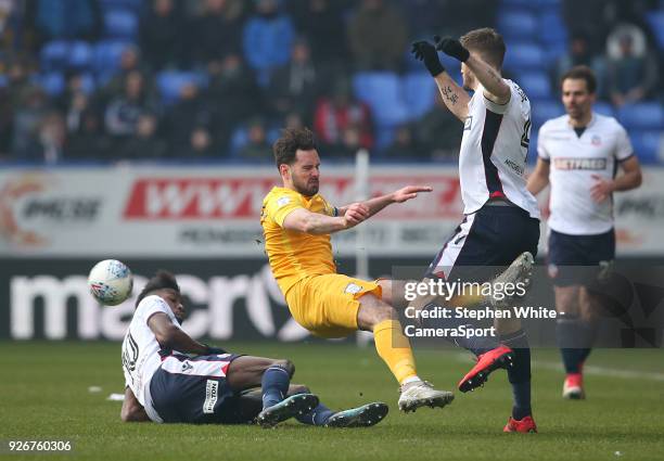
[[[548,262],[556,308],[564,312],[557,324],[566,371],[563,397],[580,399],[582,369],[597,326],[599,304],[592,292],[608,277],[615,256],[612,194],[639,187],[641,169],[621,124],[592,112],[592,71],[573,67],[561,86],[567,114],[539,129],[537,167],[528,190],[538,194],[551,184]],[[618,167],[623,174],[616,176]]]

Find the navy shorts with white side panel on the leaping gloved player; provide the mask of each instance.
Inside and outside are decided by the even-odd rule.
[[[516,206],[465,215],[426,271],[427,278],[486,282],[523,252],[537,254],[539,219]]]

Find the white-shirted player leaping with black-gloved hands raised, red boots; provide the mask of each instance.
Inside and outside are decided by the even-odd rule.
[[[522,256],[524,267],[529,266],[537,253],[539,210],[525,179],[531,104],[515,82],[500,75],[506,46],[496,30],[481,28],[460,40],[434,37],[434,41],[435,46],[413,43],[412,53],[423,61],[449,111],[463,123],[459,177],[464,219],[426,277],[485,282],[496,266],[508,266],[524,252],[529,253]],[[445,72],[437,50],[461,61],[463,88]],[[456,326],[452,322],[446,320],[443,325]],[[461,380],[459,389],[472,390],[494,370],[508,368],[514,406],[505,431],[536,432],[526,335],[519,322],[506,324],[499,333],[499,342],[494,337],[456,341],[477,356],[477,364]]]

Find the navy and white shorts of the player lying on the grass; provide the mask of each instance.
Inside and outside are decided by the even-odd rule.
[[[194,424],[248,422],[240,408],[241,394],[233,392],[226,379],[228,367],[238,357],[234,354],[165,357],[150,383],[153,406],[162,420]]]

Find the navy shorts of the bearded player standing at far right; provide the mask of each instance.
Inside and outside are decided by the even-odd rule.
[[[588,285],[597,280],[600,264],[615,258],[615,231],[596,235],[549,233],[549,276],[556,286]]]

